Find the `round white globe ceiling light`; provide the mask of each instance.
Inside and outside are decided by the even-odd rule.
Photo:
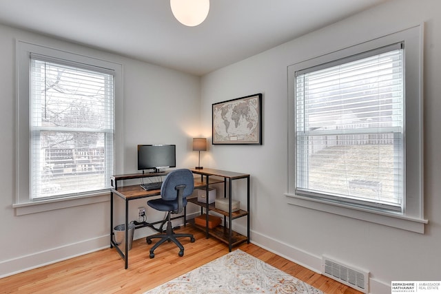
[[[170,0],[174,17],[189,27],[205,21],[209,11],[209,0]]]

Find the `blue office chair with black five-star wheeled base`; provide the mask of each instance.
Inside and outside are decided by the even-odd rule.
[[[167,211],[167,230],[163,234],[152,235],[146,238],[147,244],[152,244],[152,239],[159,240],[150,249],[150,258],[154,258],[154,250],[165,241],[173,241],[179,249],[179,256],[184,255],[184,246],[178,241],[179,237],[189,237],[190,242],[194,242],[192,234],[174,233],[171,215],[181,213],[187,205],[187,196],[192,195],[194,189],[194,178],[189,169],[176,169],[167,174],[161,186],[161,198],[147,201],[147,205],[158,211]]]

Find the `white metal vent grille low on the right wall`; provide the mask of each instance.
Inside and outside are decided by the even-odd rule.
[[[322,257],[322,273],[360,292],[369,293],[369,273]]]

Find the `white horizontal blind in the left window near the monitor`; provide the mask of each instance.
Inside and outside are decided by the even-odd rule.
[[[31,54],[31,199],[109,188],[114,73]]]

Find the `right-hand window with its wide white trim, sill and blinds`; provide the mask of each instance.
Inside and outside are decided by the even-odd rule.
[[[289,67],[290,203],[424,231],[419,33]]]

